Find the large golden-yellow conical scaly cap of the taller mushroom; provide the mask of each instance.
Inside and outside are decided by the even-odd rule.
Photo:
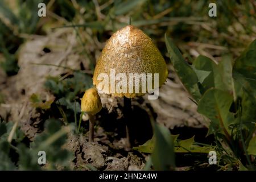
[[[133,98],[145,94],[141,89],[142,79],[139,80],[139,93],[135,93],[135,90],[132,93],[128,91],[127,93],[110,92],[110,81],[107,88],[99,88],[102,80],[98,80],[98,76],[100,73],[106,73],[112,79],[110,77],[111,69],[114,69],[115,75],[125,73],[127,90],[130,86],[129,73],[138,73],[139,75],[141,73],[152,73],[152,89],[154,89],[154,73],[159,73],[159,87],[168,76],[167,66],[159,49],[142,30],[131,25],[115,32],[106,42],[94,70],[93,85],[96,85],[102,93],[112,94],[114,97]],[[115,85],[120,80],[115,80]],[[134,84],[135,81],[133,82],[133,88],[135,87]],[[148,91],[147,89],[146,92]]]

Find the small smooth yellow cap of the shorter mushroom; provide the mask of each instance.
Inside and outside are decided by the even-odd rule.
[[[81,100],[81,111],[95,115],[102,109],[101,98],[96,88],[90,88],[85,91]]]

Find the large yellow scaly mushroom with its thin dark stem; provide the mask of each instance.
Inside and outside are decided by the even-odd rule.
[[[146,78],[148,73],[153,76],[158,73],[158,80],[155,80],[155,77],[151,79],[152,82],[148,80],[145,82],[142,78],[135,80],[134,77],[129,77],[131,73],[138,73],[137,76],[145,74]],[[139,28],[128,25],[115,32],[106,42],[94,70],[93,85],[96,85],[99,93],[123,97],[128,146],[131,145],[127,130],[131,114],[131,98],[143,96],[146,93],[143,92],[145,84],[147,93],[152,93],[152,90],[156,89],[154,80],[158,81],[156,87],[159,87],[164,84],[167,75],[168,70],[162,54]],[[102,84],[102,80],[105,80],[105,84]],[[154,86],[148,89],[148,84]],[[135,88],[138,85],[139,92],[138,90],[136,92]]]

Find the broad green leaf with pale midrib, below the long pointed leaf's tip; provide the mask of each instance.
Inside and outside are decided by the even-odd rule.
[[[221,128],[224,132],[229,131],[228,126],[235,120],[229,113],[232,102],[233,97],[228,92],[209,89],[199,101],[197,111],[210,119],[212,130]]]

